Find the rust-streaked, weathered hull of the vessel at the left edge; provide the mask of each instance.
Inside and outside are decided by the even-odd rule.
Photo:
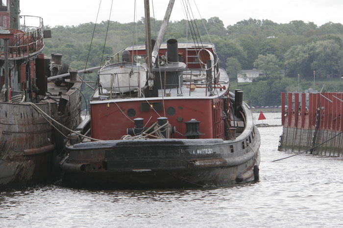
[[[79,88],[81,83],[75,83]],[[79,91],[71,89],[64,112],[58,102],[36,104],[54,120],[73,128],[80,122]],[[68,132],[58,127],[64,134]],[[64,137],[30,104],[0,103],[0,185],[24,186],[49,180]]]

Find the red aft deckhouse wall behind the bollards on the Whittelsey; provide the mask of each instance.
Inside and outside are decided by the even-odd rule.
[[[149,101],[149,104],[160,103],[162,105],[162,110],[157,112],[152,108],[148,111],[142,111],[141,105],[143,103],[146,104],[147,101],[91,104],[92,138],[101,140],[121,139],[123,135],[127,134],[127,128],[134,127],[133,119],[138,117],[144,118],[144,124],[147,124],[147,127],[149,127],[157,121],[158,117],[164,116],[164,103],[165,110],[171,107],[175,109],[175,113],[172,115],[169,115],[166,111],[166,117],[168,117],[169,123],[175,126],[176,130],[181,134],[186,133],[185,122],[196,119],[201,122],[200,131],[204,134],[200,138],[224,139],[224,121],[222,120],[223,114],[221,111],[223,100],[219,98],[214,100],[192,99],[192,102],[187,99],[163,101],[161,98]],[[128,110],[134,110],[136,114],[129,117]],[[128,121],[128,119],[131,121]],[[186,137],[180,134],[174,134],[173,138]]]

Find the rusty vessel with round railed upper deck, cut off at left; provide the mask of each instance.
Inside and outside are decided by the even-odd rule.
[[[73,128],[81,121],[81,83],[77,72],[69,82],[48,83],[69,69],[61,54],[42,53],[51,32],[42,18],[20,16],[19,0],[0,3],[0,186],[33,185],[51,177],[64,149],[69,132],[59,124]],[[27,25],[32,18],[37,24]]]

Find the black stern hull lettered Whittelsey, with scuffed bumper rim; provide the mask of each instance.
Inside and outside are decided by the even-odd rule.
[[[76,144],[67,147],[69,157],[61,165],[63,183],[92,188],[180,188],[252,181],[256,179],[254,166],[260,163],[260,136],[255,132],[255,140],[245,149],[238,149],[242,141],[220,139]],[[236,148],[234,152],[230,145]]]

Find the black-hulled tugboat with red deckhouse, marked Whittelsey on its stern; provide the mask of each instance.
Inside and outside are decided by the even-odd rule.
[[[260,135],[243,91],[229,92],[214,44],[162,43],[172,5],[151,43],[146,0],[147,43],[99,69],[90,118],[70,134],[61,161],[63,184],[179,188],[258,180]],[[84,132],[90,137],[80,137]]]

